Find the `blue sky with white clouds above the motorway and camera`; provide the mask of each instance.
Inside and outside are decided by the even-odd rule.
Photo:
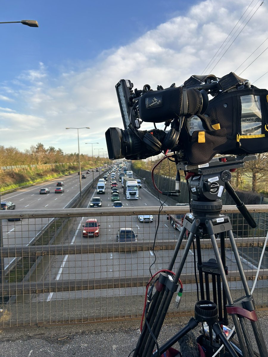
[[[90,127],[79,129],[80,153],[91,155],[85,143],[98,142],[93,154],[107,156],[105,131],[124,129],[120,79],[167,88],[205,70],[268,88],[268,2],[261,3],[2,0],[1,22],[39,27],[0,24],[0,145],[24,151],[41,142],[69,154],[78,152],[78,136],[65,128]]]

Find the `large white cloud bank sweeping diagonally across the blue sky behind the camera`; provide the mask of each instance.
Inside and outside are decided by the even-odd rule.
[[[55,76],[40,62],[37,69],[24,71],[18,79],[14,79],[16,87],[12,83],[6,85],[5,93],[8,94],[9,90],[10,94],[2,100],[13,98],[14,110],[22,113],[16,113],[9,120],[28,131],[29,138],[33,138],[31,144],[43,142],[46,147],[61,147],[65,152],[77,151],[77,135],[74,130],[66,131],[65,127],[90,126],[90,130],[79,132],[80,151],[91,152],[91,148],[84,145],[86,140],[98,141],[99,147],[106,150],[106,129],[110,126],[123,128],[115,84],[124,78],[133,81],[134,88],[141,89],[148,83],[156,89],[158,84],[168,87],[176,82],[180,85],[192,74],[201,74],[247,6],[245,0],[200,2],[187,15],[174,17],[126,46],[104,51],[96,58],[95,65],[85,63],[81,69],[79,63],[77,71],[73,66],[68,70],[58,64],[61,72]],[[264,20],[267,16],[267,5],[263,4],[219,61],[213,74],[223,76],[234,71],[268,37]],[[264,48],[257,51],[256,56]],[[218,54],[207,73],[222,54]],[[254,58],[246,61],[237,74]],[[254,81],[266,72],[267,61],[268,53],[264,53],[241,76]],[[268,75],[256,85],[267,87],[267,81]],[[9,124],[3,112],[0,116],[5,120],[1,127],[10,129],[10,134],[5,133],[4,142],[1,141],[9,146],[18,128]],[[141,129],[149,127],[153,125],[144,124]],[[160,124],[158,127],[163,126]],[[21,150],[29,147],[19,135],[15,142]]]

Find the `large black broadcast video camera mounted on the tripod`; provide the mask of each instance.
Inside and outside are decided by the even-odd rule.
[[[131,81],[124,79],[115,88],[124,130],[105,132],[111,160],[146,159],[170,150],[201,165],[215,154],[268,151],[268,91],[233,72],[222,78],[193,75],[180,87],[173,83],[156,91],[149,85],[133,91]],[[154,129],[138,130],[142,122],[154,123]],[[156,129],[160,122],[165,130]]]

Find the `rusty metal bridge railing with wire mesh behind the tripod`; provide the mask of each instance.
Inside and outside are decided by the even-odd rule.
[[[254,230],[235,206],[223,206],[222,213],[232,222],[251,288],[267,234],[268,205],[248,209],[257,222]],[[168,268],[187,212],[188,206],[1,211],[0,328],[139,319],[150,271]],[[144,215],[151,221],[143,222]],[[90,227],[83,227],[92,218],[97,220],[95,236],[87,234]],[[120,228],[133,230],[133,241],[118,242]],[[185,236],[173,271],[186,241]],[[200,240],[200,249],[202,260],[214,258],[207,236]],[[193,314],[195,254],[191,249],[181,275],[182,302],[178,310],[170,305],[169,317]],[[227,279],[236,299],[243,292],[228,238],[225,256]],[[259,310],[268,309],[267,277],[266,250],[253,293]],[[211,279],[209,283],[212,290]]]

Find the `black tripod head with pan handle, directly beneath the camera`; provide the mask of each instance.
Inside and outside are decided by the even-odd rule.
[[[230,185],[232,172],[244,167],[245,162],[257,160],[256,155],[215,157],[207,164],[190,165],[179,162],[177,170],[187,172],[189,190],[192,194],[190,207],[194,215],[217,216],[222,210],[222,194],[226,190],[233,198],[240,213],[248,224],[255,228],[257,225],[247,207],[240,201],[233,187]]]

